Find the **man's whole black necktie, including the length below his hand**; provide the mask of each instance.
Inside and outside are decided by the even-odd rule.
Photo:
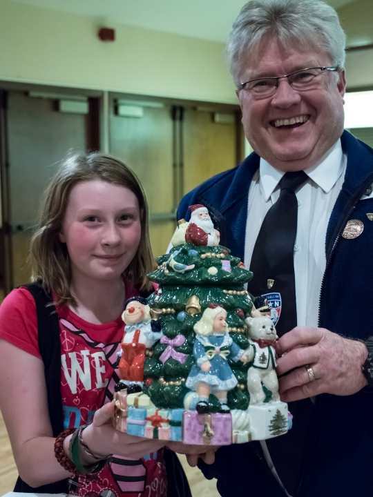
[[[281,312],[276,324],[279,336],[297,324],[294,276],[294,244],[298,224],[298,201],[294,191],[307,180],[303,171],[286,173],[280,181],[280,197],[271,206],[260,228],[250,271],[253,280],[248,290],[254,296],[280,293]],[[268,288],[268,280],[274,280]],[[267,447],[281,482],[291,496],[296,496],[305,466],[306,447],[312,432],[312,402],[309,399],[289,403],[294,416],[293,428],[286,435],[267,440]]]

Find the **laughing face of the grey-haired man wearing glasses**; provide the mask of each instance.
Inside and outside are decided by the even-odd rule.
[[[276,41],[263,41],[258,56],[242,64],[240,81],[283,76],[296,70],[331,66],[330,57],[316,48],[298,52]],[[325,72],[312,90],[295,91],[287,79],[280,79],[276,93],[258,99],[238,90],[245,135],[256,153],[278,170],[303,170],[327,152],[343,132],[345,75],[340,80]],[[275,121],[306,117],[307,121],[276,127]],[[278,122],[277,122],[278,124]]]

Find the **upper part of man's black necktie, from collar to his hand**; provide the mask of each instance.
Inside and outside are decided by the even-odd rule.
[[[294,191],[307,179],[304,171],[286,173],[280,181],[280,197],[271,206],[260,228],[250,271],[254,273],[249,292],[258,297],[280,293],[279,336],[296,327],[296,292],[294,277],[294,244],[298,222],[298,201]],[[270,280],[274,280],[272,286]]]

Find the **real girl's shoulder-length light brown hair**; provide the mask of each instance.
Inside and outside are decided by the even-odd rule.
[[[109,155],[72,155],[61,165],[45,192],[36,230],[30,243],[31,280],[41,280],[46,291],[54,292],[57,295],[55,304],[76,303],[70,293],[70,257],[66,244],[59,240],[59,232],[73,186],[94,179],[124,186],[135,193],[140,208],[140,244],[123,276],[140,290],[152,288],[146,277],[146,274],[153,270],[148,206],[137,177],[123,162]]]

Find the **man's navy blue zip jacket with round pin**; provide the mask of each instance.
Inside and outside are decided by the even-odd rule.
[[[347,170],[327,227],[319,326],[364,340],[373,335],[373,221],[367,218],[367,213],[373,213],[373,198],[361,200],[361,195],[373,183],[373,150],[347,131],[341,142]],[[189,220],[188,206],[204,204],[220,231],[220,243],[241,260],[249,186],[259,161],[252,153],[240,166],[204,182],[182,199],[178,210],[178,219]],[[341,232],[350,219],[363,222],[364,230],[357,238],[345,240]],[[373,391],[365,387],[352,396],[317,396],[307,455],[299,497],[373,496]],[[284,496],[258,442],[222,447],[213,465],[200,467],[207,478],[218,478],[224,497]]]

